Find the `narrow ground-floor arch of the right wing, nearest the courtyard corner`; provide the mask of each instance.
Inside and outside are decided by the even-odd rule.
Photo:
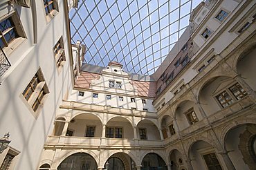
[[[170,153],[170,166],[172,170],[185,169],[186,167],[183,155],[177,149]]]

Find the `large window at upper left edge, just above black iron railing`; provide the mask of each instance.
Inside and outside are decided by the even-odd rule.
[[[19,17],[16,12],[12,12],[8,17],[0,20],[0,47],[4,48],[17,39],[18,37],[26,37],[21,28]]]

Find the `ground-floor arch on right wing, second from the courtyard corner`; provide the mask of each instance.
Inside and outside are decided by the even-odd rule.
[[[194,142],[189,151],[193,169],[223,169],[221,155],[217,154],[214,147],[202,140]]]

